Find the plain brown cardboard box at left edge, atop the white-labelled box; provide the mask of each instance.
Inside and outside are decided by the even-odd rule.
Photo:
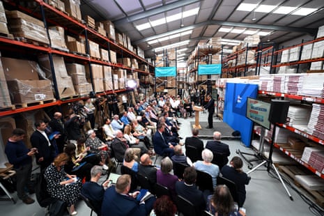
[[[38,72],[42,72],[35,61],[1,57],[1,62],[6,80],[39,79]]]

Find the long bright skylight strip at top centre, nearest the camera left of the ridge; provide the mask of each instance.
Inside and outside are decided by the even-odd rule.
[[[160,26],[162,24],[165,24],[167,22],[173,22],[173,21],[176,21],[176,20],[181,20],[185,17],[190,17],[190,16],[193,16],[193,15],[196,15],[199,13],[199,8],[194,8],[192,10],[187,10],[183,13],[177,13],[175,15],[171,15],[171,16],[168,16],[168,17],[165,17],[165,18],[162,18],[162,19],[159,19],[159,20],[152,20],[150,22],[146,22],[144,24],[140,24],[138,26],[136,26],[137,30],[141,31],[141,30],[144,30],[144,29],[148,29],[148,28],[151,28],[151,26]]]

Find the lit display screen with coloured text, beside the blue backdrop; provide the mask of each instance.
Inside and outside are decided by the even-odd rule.
[[[271,104],[263,102],[254,98],[247,98],[247,118],[258,123],[263,128],[270,130],[270,121],[268,120],[270,114]]]

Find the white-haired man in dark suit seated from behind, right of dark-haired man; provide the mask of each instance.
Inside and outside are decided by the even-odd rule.
[[[214,132],[214,140],[208,141],[206,144],[206,148],[213,152],[213,164],[217,164],[219,169],[222,169],[227,162],[229,162],[229,155],[231,152],[229,151],[229,145],[221,142],[222,134],[218,131]],[[217,160],[217,158],[222,157],[222,161]],[[217,160],[217,162],[215,162]]]

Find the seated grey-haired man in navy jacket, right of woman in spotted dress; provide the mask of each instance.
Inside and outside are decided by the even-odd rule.
[[[81,193],[91,201],[93,208],[95,209],[95,213],[100,215],[102,200],[104,199],[105,190],[107,189],[109,180],[106,180],[104,183],[102,183],[102,185],[98,184],[102,174],[102,167],[98,165],[92,167],[90,173],[91,180],[82,185]]]

